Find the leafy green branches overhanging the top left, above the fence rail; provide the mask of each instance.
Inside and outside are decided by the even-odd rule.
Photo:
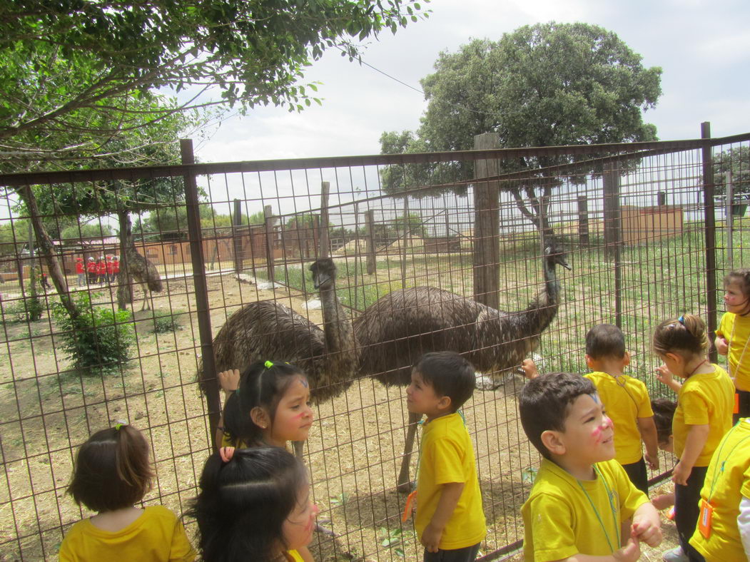
[[[0,160],[71,160],[186,109],[301,110],[305,67],[416,21],[416,0],[15,0],[0,4]],[[157,88],[182,92],[157,103]],[[211,94],[220,93],[217,99]],[[47,146],[55,136],[65,142]],[[41,148],[39,145],[43,145]]]

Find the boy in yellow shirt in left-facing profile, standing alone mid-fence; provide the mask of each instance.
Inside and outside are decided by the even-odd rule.
[[[407,409],[425,414],[417,475],[417,537],[425,562],[470,562],[487,534],[474,449],[458,408],[474,393],[471,363],[452,351],[414,366]]]

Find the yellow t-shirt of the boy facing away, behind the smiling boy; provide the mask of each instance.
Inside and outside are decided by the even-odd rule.
[[[607,416],[614,424],[614,458],[621,465],[630,465],[643,458],[637,418],[652,417],[651,400],[646,385],[628,375],[613,377],[595,371],[584,375],[596,387]]]

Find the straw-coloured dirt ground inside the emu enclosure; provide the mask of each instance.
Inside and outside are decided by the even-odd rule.
[[[113,294],[105,288],[98,300],[111,303]],[[280,288],[260,290],[231,274],[208,277],[208,296],[214,334],[229,314],[253,300],[276,298],[308,315],[304,295]],[[209,438],[205,399],[195,384],[200,347],[191,280],[167,280],[166,290],[154,294],[154,306],[175,314],[181,329],[155,335],[152,313],[136,312],[139,358],[104,380],[65,372],[68,360],[50,336],[46,315],[31,326],[4,325],[2,560],[54,558],[62,534],[87,515],[65,495],[73,451],[91,432],[117,420],[143,429],[151,440],[157,480],[146,504],[162,503],[181,513],[195,495]],[[311,310],[309,317],[320,323],[320,310]],[[497,390],[477,390],[463,408],[475,440],[489,527],[484,554],[523,537],[520,506],[531,486],[529,467],[538,464],[538,456],[517,423],[519,389],[516,379]],[[395,490],[406,433],[403,390],[362,379],[318,408],[305,462],[314,501],[322,510],[320,523],[335,538],[316,534],[311,546],[315,559],[417,560],[421,549],[411,522],[401,524],[405,498]],[[416,463],[415,454],[412,474]],[[191,534],[194,524],[186,524]],[[675,544],[673,537],[665,543],[667,548]],[[658,558],[654,551],[643,555],[644,560]]]

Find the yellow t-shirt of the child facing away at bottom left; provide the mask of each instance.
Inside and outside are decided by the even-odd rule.
[[[191,562],[195,556],[182,522],[160,505],[146,507],[138,519],[115,533],[83,519],[60,546],[60,562]]]

